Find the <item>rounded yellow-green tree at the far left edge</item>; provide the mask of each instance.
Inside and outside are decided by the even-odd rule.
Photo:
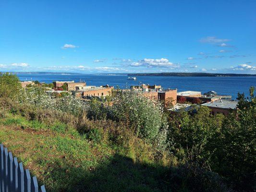
[[[0,97],[15,99],[21,89],[19,78],[16,75],[0,72]]]

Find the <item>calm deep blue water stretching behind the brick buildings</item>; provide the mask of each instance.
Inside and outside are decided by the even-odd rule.
[[[177,88],[180,91],[216,91],[219,95],[231,95],[232,99],[237,93],[245,93],[249,96],[250,86],[256,87],[256,77],[171,77],[171,76],[137,76],[136,81],[127,80],[127,75],[61,75],[61,74],[18,74],[21,81],[38,80],[39,82],[51,83],[52,81],[79,82],[80,79],[88,85],[118,85],[120,88],[129,88],[130,85],[160,84],[164,88]]]

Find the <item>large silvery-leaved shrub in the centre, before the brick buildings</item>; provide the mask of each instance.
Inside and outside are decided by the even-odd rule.
[[[118,92],[110,106],[94,99],[88,115],[91,119],[122,122],[137,137],[156,144],[159,149],[165,147],[168,124],[162,105],[140,93]]]

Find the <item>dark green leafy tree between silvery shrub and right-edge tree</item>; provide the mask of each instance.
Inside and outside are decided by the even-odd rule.
[[[196,110],[195,115],[185,109],[171,114],[168,132],[170,149],[180,160],[211,167],[212,155],[216,150],[215,139],[224,116],[212,116],[210,109],[203,106]]]

